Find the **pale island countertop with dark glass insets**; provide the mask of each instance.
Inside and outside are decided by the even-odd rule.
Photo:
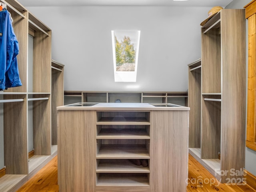
[[[190,110],[189,107],[170,103],[74,103],[57,110]]]

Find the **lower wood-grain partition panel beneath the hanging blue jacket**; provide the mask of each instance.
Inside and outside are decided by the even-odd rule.
[[[8,99],[19,99],[9,95]],[[28,174],[26,102],[4,103],[4,164],[6,174]]]

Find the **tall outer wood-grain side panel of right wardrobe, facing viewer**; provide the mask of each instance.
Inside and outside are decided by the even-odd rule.
[[[246,25],[245,12],[221,12],[222,38],[222,102],[221,102],[221,169],[226,178],[234,176],[231,169],[243,170],[245,165],[246,127]],[[232,83],[230,83],[232,82]],[[235,157],[235,158],[234,158]]]

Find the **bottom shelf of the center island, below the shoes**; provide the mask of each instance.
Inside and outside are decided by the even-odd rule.
[[[149,186],[147,174],[98,174],[96,186]]]

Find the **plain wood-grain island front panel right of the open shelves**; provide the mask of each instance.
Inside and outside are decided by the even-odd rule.
[[[151,191],[185,192],[188,178],[188,111],[153,111]]]

